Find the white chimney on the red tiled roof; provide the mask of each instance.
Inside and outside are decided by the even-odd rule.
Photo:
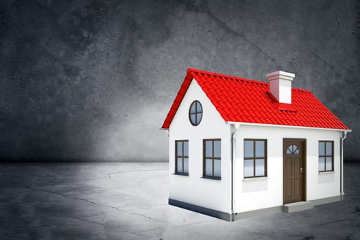
[[[278,99],[278,102],[291,104],[291,82],[295,74],[276,71],[274,73],[267,73],[266,77],[270,83],[270,93]]]

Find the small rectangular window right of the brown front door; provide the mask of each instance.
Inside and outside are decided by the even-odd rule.
[[[319,141],[319,171],[334,171],[333,141]]]

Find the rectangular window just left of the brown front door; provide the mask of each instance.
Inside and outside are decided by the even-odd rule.
[[[264,139],[244,139],[244,178],[267,176],[267,141]]]

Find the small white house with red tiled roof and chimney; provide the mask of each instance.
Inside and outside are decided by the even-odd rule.
[[[188,69],[162,130],[169,204],[220,219],[341,200],[350,132],[292,73],[269,83]]]

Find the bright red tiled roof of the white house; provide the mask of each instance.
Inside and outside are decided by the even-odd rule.
[[[292,88],[292,104],[279,104],[269,83],[196,69],[187,70],[163,129],[169,128],[193,79],[225,121],[348,130],[311,91]]]

